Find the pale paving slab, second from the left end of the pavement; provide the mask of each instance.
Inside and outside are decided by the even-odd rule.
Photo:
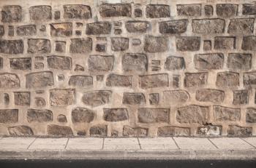
[[[34,143],[29,146],[29,149],[64,149],[67,145],[68,138],[37,138]]]

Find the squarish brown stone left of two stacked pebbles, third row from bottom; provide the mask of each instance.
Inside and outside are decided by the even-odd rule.
[[[15,105],[30,105],[30,92],[14,92]]]

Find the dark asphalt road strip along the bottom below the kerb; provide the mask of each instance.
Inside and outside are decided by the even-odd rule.
[[[10,168],[256,168],[256,160],[4,160]]]

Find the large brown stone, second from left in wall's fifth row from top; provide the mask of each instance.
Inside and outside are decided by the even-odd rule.
[[[42,71],[26,74],[26,88],[50,87],[53,86],[53,73]]]

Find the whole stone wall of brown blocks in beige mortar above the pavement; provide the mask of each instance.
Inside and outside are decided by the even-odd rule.
[[[256,4],[1,0],[0,133],[256,135]]]

